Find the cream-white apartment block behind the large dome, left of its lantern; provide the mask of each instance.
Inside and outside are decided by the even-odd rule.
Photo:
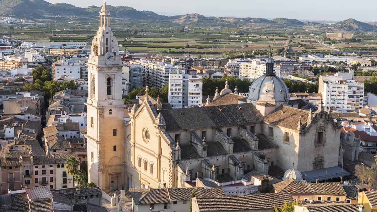
[[[276,68],[276,64],[274,64]],[[239,64],[239,78],[256,79],[266,72],[266,62],[259,59],[251,60],[250,63]]]

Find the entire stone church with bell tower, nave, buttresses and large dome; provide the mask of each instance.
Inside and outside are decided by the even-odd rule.
[[[159,98],[148,95],[147,86],[129,111],[106,3],[99,22],[87,63],[88,181],[105,191],[170,188],[196,178],[227,182],[252,170],[268,174],[271,166],[294,168],[308,177],[338,167],[340,121],[322,104],[313,111],[291,102],[271,56],[246,98],[226,82],[203,107],[165,109]]]

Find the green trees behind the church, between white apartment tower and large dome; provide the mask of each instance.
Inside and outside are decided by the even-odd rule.
[[[231,76],[224,76],[219,79],[205,77],[203,78],[203,96],[213,96],[216,91],[216,87],[223,89],[225,87],[225,81],[229,82],[229,89],[232,91],[237,86],[238,92],[249,92],[249,86],[251,85],[252,81],[248,79],[241,80],[240,78],[235,78]]]

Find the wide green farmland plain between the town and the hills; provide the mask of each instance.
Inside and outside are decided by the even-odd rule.
[[[35,20],[44,25],[0,26],[0,35],[23,41],[86,41],[88,45],[98,29],[97,17],[51,17]],[[111,27],[121,45],[129,52],[172,55],[215,55],[217,57],[263,56],[273,51],[287,55],[326,53],[331,51],[377,50],[377,35],[369,32],[356,33],[355,43],[317,43],[326,32],[319,26],[280,26],[253,23],[172,23],[167,21],[124,20],[113,18]],[[315,34],[315,36],[313,36]]]

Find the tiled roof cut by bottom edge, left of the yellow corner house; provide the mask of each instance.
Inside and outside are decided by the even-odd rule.
[[[329,203],[300,205],[306,207],[308,212],[359,212],[359,204]]]

